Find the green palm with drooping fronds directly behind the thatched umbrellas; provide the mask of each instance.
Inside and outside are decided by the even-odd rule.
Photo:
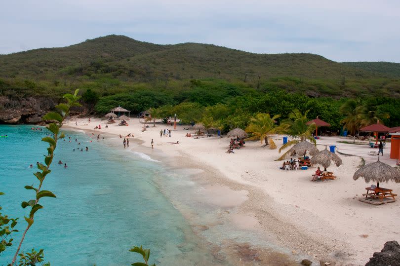
[[[313,132],[315,131],[316,125],[314,123],[307,125],[308,112],[310,112],[310,110],[307,110],[304,114],[301,114],[299,110],[293,110],[288,115],[289,118],[282,121],[282,123],[280,124],[280,133],[289,136],[292,140],[282,145],[282,147],[280,147],[279,149],[279,152],[286,149],[287,147],[306,140],[309,140],[314,145],[316,144],[316,141],[313,138]],[[285,156],[286,152],[280,157],[280,159]]]

